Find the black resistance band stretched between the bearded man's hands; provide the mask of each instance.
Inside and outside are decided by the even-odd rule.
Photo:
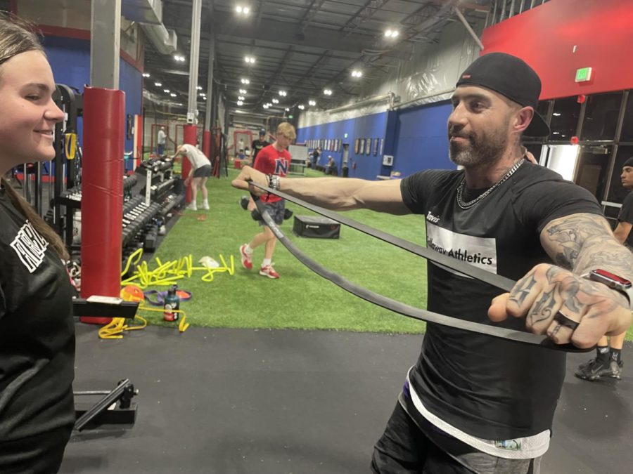
[[[287,195],[284,192],[280,192],[270,187],[258,185],[257,183],[250,183],[252,186],[258,187],[265,192],[269,192],[270,194],[274,194],[283,199],[286,199],[289,202],[293,202],[294,204],[298,204],[310,211],[314,211],[316,213],[321,214],[321,216],[330,218],[335,220],[338,223],[347,225],[350,228],[359,230],[360,232],[364,232],[367,235],[371,235],[372,237],[376,237],[381,239],[383,242],[387,242],[388,244],[395,245],[401,249],[407,250],[412,254],[417,256],[421,256],[423,258],[427,258],[430,261],[433,261],[439,265],[445,266],[452,270],[462,273],[463,275],[468,275],[470,277],[474,277],[482,282],[487,284],[491,284],[493,287],[497,287],[504,291],[510,291],[514,286],[515,282],[511,279],[502,277],[501,275],[497,275],[491,272],[487,272],[486,270],[482,270],[474,265],[469,265],[468,263],[464,263],[462,261],[456,260],[451,257],[447,257],[445,255],[439,254],[433,250],[429,250],[426,247],[414,244],[413,242],[408,242],[407,240],[400,239],[399,237],[395,237],[394,235],[390,235],[386,232],[382,232],[381,230],[374,229],[369,225],[365,225],[359,223],[355,220],[347,218],[345,216],[341,216],[339,213],[335,213],[334,211],[329,211],[328,209],[323,209],[319,206],[315,206],[314,204],[309,204],[309,202],[305,202],[302,199],[298,199],[297,197],[293,197]],[[493,326],[487,324],[481,324],[479,322],[471,322],[460,320],[459,318],[440,315],[437,312],[431,312],[427,310],[422,310],[420,308],[414,308],[414,306],[410,306],[404,304],[400,301],[396,301],[392,298],[388,298],[387,296],[383,296],[381,294],[377,294],[369,289],[361,287],[354,282],[350,282],[350,280],[343,278],[338,275],[338,273],[332,272],[328,270],[324,266],[316,263],[316,261],[309,258],[302,251],[298,249],[293,242],[290,242],[286,235],[283,235],[281,229],[274,223],[274,220],[270,217],[268,211],[264,203],[259,199],[259,197],[253,195],[251,193],[253,199],[255,200],[255,204],[257,205],[257,209],[260,211],[262,215],[262,219],[264,223],[270,228],[275,237],[279,239],[279,242],[283,244],[283,246],[288,249],[290,254],[293,254],[301,263],[307,266],[310,270],[315,272],[317,275],[324,277],[340,288],[343,288],[345,291],[349,291],[351,294],[358,296],[359,298],[363,298],[370,303],[381,306],[382,308],[391,310],[393,312],[397,312],[401,315],[414,318],[416,320],[422,320],[426,322],[435,322],[437,324],[442,324],[448,327],[454,327],[456,329],[463,329],[465,331],[471,331],[478,334],[485,334],[486,336],[497,337],[501,339],[506,339],[508,341],[514,341],[518,343],[525,343],[530,345],[539,345],[543,348],[553,349],[553,350],[563,350],[565,352],[573,352],[573,353],[583,353],[589,352],[593,348],[581,349],[577,348],[575,345],[568,344],[556,344],[551,341],[544,334],[532,334],[530,332],[525,331],[515,331],[513,329],[507,329],[500,326]]]

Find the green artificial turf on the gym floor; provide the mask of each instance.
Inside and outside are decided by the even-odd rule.
[[[193,263],[203,256],[229,262],[234,256],[235,273],[217,273],[212,282],[201,280],[202,272],[179,282],[181,289],[193,292],[183,302],[187,320],[193,326],[242,328],[334,329],[418,333],[424,323],[397,315],[347,293],[307,269],[277,244],[274,267],[278,280],[257,272],[263,246],[255,250],[253,269],[241,268],[239,246],[259,232],[257,223],[243,211],[238,200],[244,193],[234,189],[229,178],[210,178],[209,211],[183,211],[155,256],[162,263],[191,254]],[[323,176],[307,170],[307,176]],[[341,178],[343,179],[343,178]],[[311,212],[288,204],[295,215]],[[390,216],[371,211],[349,211],[347,216],[417,244],[425,242],[421,216]],[[199,220],[200,216],[205,220]],[[308,239],[292,232],[293,219],[281,226],[283,232],[308,256],[352,282],[418,308],[426,308],[426,263],[423,258],[396,249],[378,239],[342,226],[340,239]],[[150,268],[155,263],[149,263]],[[166,287],[155,289],[165,290]],[[149,322],[164,324],[158,312],[141,312]],[[165,323],[169,324],[169,323]],[[633,338],[629,329],[628,337]]]

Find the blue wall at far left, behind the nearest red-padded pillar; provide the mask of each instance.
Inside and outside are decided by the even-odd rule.
[[[49,57],[53,77],[57,84],[65,84],[84,91],[90,82],[90,41],[61,37],[46,37],[46,55]],[[143,75],[134,66],[120,59],[119,88],[125,93],[125,114],[143,113]],[[127,125],[124,122],[124,127]],[[77,125],[79,140],[82,137],[82,123]],[[127,128],[124,128],[127,131]],[[126,134],[127,136],[127,134]],[[133,139],[125,139],[124,150],[134,149]]]

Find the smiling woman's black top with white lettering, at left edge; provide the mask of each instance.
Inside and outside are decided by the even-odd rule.
[[[70,279],[0,190],[0,442],[72,426]]]

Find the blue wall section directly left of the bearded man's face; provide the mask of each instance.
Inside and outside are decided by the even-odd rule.
[[[448,102],[398,111],[393,170],[409,176],[423,169],[455,169],[449,159]]]

